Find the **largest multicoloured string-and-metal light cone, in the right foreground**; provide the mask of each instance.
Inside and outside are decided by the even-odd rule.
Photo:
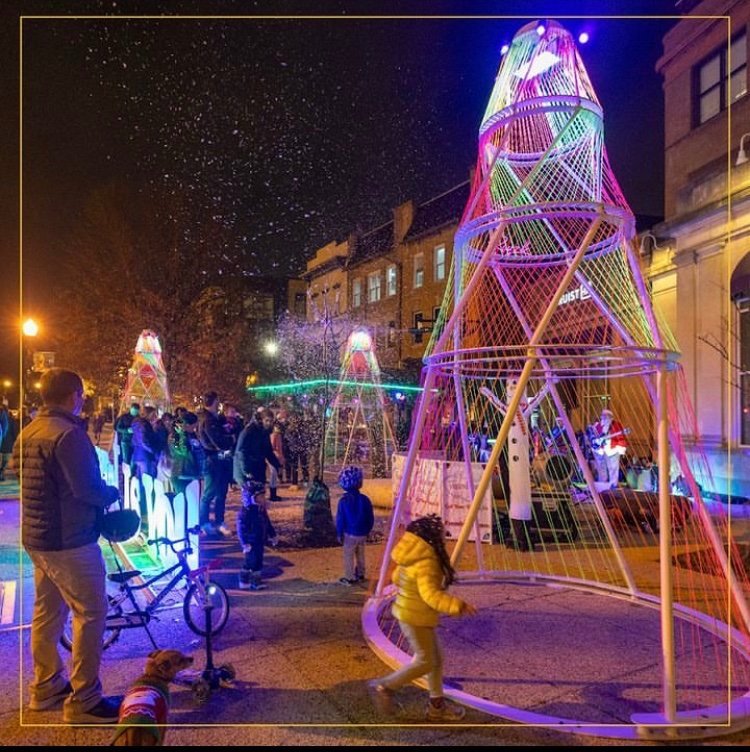
[[[472,502],[451,558],[483,621],[470,637],[462,633],[470,622],[451,627],[446,655],[460,666],[447,672],[461,674],[463,686],[447,693],[579,732],[722,733],[750,717],[748,578],[725,518],[709,514],[703,498],[710,469],[681,438],[699,433],[675,342],[644,284],[602,123],[571,35],[553,22],[522,28],[480,127],[365,631],[386,661],[408,660],[386,608],[390,552],[430,493],[434,463],[458,463]],[[601,427],[603,408],[619,427]],[[477,481],[472,437],[481,432],[491,452]],[[652,461],[658,493],[620,484],[621,463]],[[671,494],[676,481],[685,496]],[[467,547],[493,486],[495,542]],[[530,582],[556,589],[533,597]],[[502,598],[493,583],[502,583]],[[535,610],[541,602],[547,608]],[[612,631],[603,627],[610,612]],[[503,625],[494,636],[493,617]],[[514,619],[523,627],[508,642]],[[518,650],[518,684],[497,681]],[[580,685],[579,695],[540,700],[539,682],[519,691],[535,670],[541,683]],[[608,671],[625,686],[605,712],[597,698]]]

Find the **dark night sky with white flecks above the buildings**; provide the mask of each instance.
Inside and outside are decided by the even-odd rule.
[[[351,18],[389,11],[528,16]],[[196,233],[211,234],[212,225],[211,237],[222,238],[225,266],[217,272],[295,274],[325,243],[388,221],[406,199],[424,201],[462,182],[500,47],[529,18],[550,14],[590,33],[581,53],[604,107],[613,167],[636,213],[662,213],[663,101],[654,65],[675,21],[590,16],[676,15],[673,0],[60,0],[23,2],[20,12],[338,16],[23,22],[24,308],[42,320],[64,281],[60,259],[82,207],[107,184],[181,197],[202,220],[185,223],[185,243],[198,247]],[[18,15],[4,6],[0,39],[4,90],[16,103],[2,114],[16,148],[2,155],[8,304],[0,377],[17,368],[9,341],[18,315]]]

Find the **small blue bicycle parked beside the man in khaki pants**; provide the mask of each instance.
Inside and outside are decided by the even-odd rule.
[[[144,580],[140,585],[130,584],[130,580],[140,576],[140,570],[135,569],[124,571],[115,556],[118,571],[108,574],[107,579],[110,582],[116,582],[119,585],[119,588],[115,595],[107,596],[109,608],[107,611],[107,620],[104,627],[104,638],[102,641],[102,647],[105,650],[118,640],[123,629],[134,629],[136,627],[143,627],[154,648],[158,649],[148,625],[152,616],[159,609],[159,606],[162,604],[166,596],[174,590],[181,580],[184,580],[187,585],[182,612],[185,617],[185,623],[188,627],[201,637],[207,635],[207,629],[204,625],[207,613],[206,607],[207,604],[210,603],[210,608],[213,614],[209,622],[211,625],[211,635],[216,635],[221,632],[229,618],[229,597],[227,596],[227,592],[218,583],[210,581],[209,567],[203,566],[198,569],[191,569],[187,562],[187,557],[193,553],[193,548],[190,545],[190,535],[197,535],[198,532],[199,527],[196,526],[189,529],[187,535],[179,540],[156,538],[154,540],[146,541],[149,545],[164,544],[169,546],[177,556],[178,561],[164,571]],[[184,547],[179,550],[175,548],[175,546],[178,546],[181,543],[185,544]],[[136,601],[135,593],[145,590],[158,580],[168,577],[172,573],[175,573],[174,576],[154,600],[145,608],[140,608]],[[123,608],[126,601],[129,601],[133,606],[132,610],[125,610]],[[67,650],[72,650],[73,648],[70,618],[68,618],[68,623],[66,624],[62,637],[60,638],[60,643]]]

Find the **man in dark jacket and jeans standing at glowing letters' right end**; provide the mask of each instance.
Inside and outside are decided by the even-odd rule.
[[[234,440],[224,430],[224,416],[219,413],[219,395],[216,392],[206,392],[203,406],[205,410],[201,414],[198,438],[206,453],[206,467],[198,521],[205,535],[229,536],[232,531],[224,524],[224,507],[232,478]],[[213,524],[209,520],[211,502],[214,503]]]

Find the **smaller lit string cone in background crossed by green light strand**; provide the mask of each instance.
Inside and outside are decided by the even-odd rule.
[[[355,329],[349,335],[330,410],[325,432],[326,470],[338,473],[345,465],[358,464],[371,477],[389,474],[395,448],[389,401],[366,329]]]

